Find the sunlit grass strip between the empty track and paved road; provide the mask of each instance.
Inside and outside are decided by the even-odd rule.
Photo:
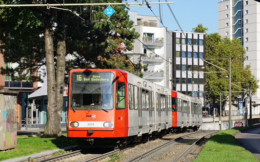
[[[259,162],[236,141],[233,134],[248,127],[221,130],[212,136],[193,162]]]

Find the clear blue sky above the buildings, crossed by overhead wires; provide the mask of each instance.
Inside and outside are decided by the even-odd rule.
[[[135,2],[134,0],[127,0]],[[159,0],[148,0],[158,2]],[[164,0],[160,0],[163,1]],[[191,32],[199,23],[208,28],[209,33],[218,33],[218,2],[220,0],[167,0],[174,2],[169,4],[175,17],[180,23],[184,32]],[[142,0],[138,0],[142,2]],[[143,5],[146,6],[146,5]],[[159,4],[151,5],[151,9],[156,16],[159,16]],[[154,16],[149,8],[130,7],[130,11],[137,11],[138,15]],[[162,22],[168,30],[180,30],[167,4],[162,4]],[[160,26],[162,26],[160,24]]]

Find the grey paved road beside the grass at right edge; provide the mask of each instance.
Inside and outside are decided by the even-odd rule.
[[[248,129],[235,135],[238,142],[260,159],[260,127]]]

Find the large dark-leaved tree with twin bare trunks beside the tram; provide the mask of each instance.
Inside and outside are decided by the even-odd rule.
[[[75,3],[74,0],[64,2]],[[0,0],[0,3],[53,4],[63,3],[63,0]],[[81,13],[80,18],[69,11],[46,7],[3,7],[0,10],[0,50],[5,62],[19,63],[17,68],[1,68],[1,74],[8,74],[14,80],[36,81],[40,80],[40,75],[34,74],[40,66],[47,67],[48,118],[44,137],[61,136],[63,94],[60,94],[60,87],[64,86],[66,54],[76,57],[66,68],[89,68],[95,64],[98,68],[126,66],[125,70],[133,70],[125,57],[115,55],[115,50],[119,43],[131,50],[138,33],[131,29],[133,22],[129,20],[125,6],[113,6],[116,13],[112,18],[103,14],[105,7],[66,8]],[[21,62],[21,59],[24,61]],[[124,63],[117,62],[117,59],[123,60]]]

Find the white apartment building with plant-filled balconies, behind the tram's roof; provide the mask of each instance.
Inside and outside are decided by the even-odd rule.
[[[129,11],[128,14],[140,37],[135,40],[134,49],[126,54],[131,56],[135,64],[140,62],[142,66],[148,65],[142,70],[143,78],[166,86],[166,29],[159,27],[157,17],[137,15],[135,11]]]

